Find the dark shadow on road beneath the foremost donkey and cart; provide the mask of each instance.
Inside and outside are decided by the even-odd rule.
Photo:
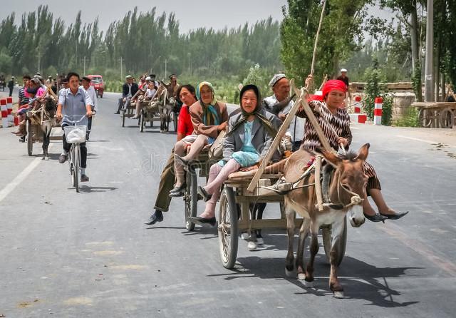
[[[315,289],[307,289],[298,279],[285,276],[285,255],[280,257],[238,257],[237,268],[230,274],[208,275],[226,276],[225,279],[239,279],[245,277],[258,277],[261,279],[285,279],[295,284],[304,292],[296,294],[314,294],[316,296],[331,297],[329,289],[330,266],[326,256],[319,253],[315,260]],[[393,297],[400,296],[401,292],[388,286],[387,279],[406,275],[407,270],[422,269],[423,267],[375,267],[366,262],[356,260],[346,255],[343,258],[338,272],[341,284],[345,289],[348,299],[364,299],[368,305],[378,307],[407,307],[418,302],[396,302]],[[324,275],[324,276],[322,276]]]

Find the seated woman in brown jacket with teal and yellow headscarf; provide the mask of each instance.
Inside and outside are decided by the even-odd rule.
[[[225,130],[228,125],[227,104],[217,101],[211,83],[199,83],[197,99],[198,101],[190,106],[193,134],[183,138],[175,145],[176,183],[170,191],[170,197],[181,197],[183,195],[185,188],[184,165],[197,158],[205,145],[214,143],[220,131]],[[187,147],[190,147],[190,152],[185,155]]]

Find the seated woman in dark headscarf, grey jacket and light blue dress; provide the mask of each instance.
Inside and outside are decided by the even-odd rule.
[[[198,187],[198,193],[206,202],[204,212],[193,218],[197,223],[215,225],[215,205],[220,186],[230,173],[242,168],[258,168],[276,136],[281,121],[274,114],[261,108],[259,89],[252,84],[242,88],[239,102],[241,108],[229,116],[229,129],[223,143],[223,159],[211,166],[205,187]],[[273,160],[280,158],[279,152]]]

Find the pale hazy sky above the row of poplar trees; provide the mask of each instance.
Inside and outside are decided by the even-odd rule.
[[[180,22],[180,31],[185,32],[199,26],[223,29],[236,27],[246,21],[255,22],[272,16],[281,20],[281,7],[286,0],[1,0],[0,20],[16,12],[20,21],[24,12],[35,11],[39,4],[47,4],[54,18],[61,16],[66,25],[73,23],[76,13],[82,11],[83,22],[93,22],[99,17],[100,29],[108,29],[110,22],[122,19],[138,6],[138,11],[150,11],[154,6],[157,13],[175,12]]]

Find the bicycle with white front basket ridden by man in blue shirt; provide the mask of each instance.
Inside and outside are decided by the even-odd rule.
[[[79,173],[81,172],[81,143],[86,142],[87,125],[78,125],[86,115],[63,116],[67,123],[71,125],[63,126],[67,143],[71,143],[71,148],[68,153],[68,165],[70,166],[71,180],[76,192],[79,193]],[[70,120],[70,118],[80,118],[79,120]]]

